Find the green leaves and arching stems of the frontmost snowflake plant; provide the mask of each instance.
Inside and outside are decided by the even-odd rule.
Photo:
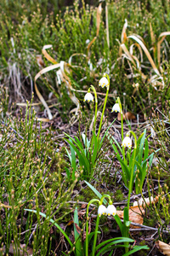
[[[105,255],[105,253],[107,253],[107,252],[110,252],[110,255],[111,255],[111,253],[113,253],[114,248],[116,248],[116,247],[125,247],[125,248],[131,248],[132,249],[128,253],[123,254],[123,256],[127,256],[127,255],[131,255],[131,254],[133,254],[133,253],[135,253],[135,252],[137,252],[141,249],[148,249],[147,246],[133,246],[133,247],[131,247],[129,245],[129,243],[134,242],[134,240],[131,239],[131,238],[128,238],[128,237],[116,237],[116,238],[112,238],[112,239],[103,241],[103,242],[99,243],[99,245],[96,245],[97,236],[100,234],[98,229],[99,229],[99,216],[101,215],[101,212],[99,212],[99,210],[98,210],[98,217],[97,217],[97,220],[96,220],[95,230],[88,234],[88,221],[89,221],[88,208],[89,208],[90,204],[92,204],[94,202],[97,202],[99,204],[99,207],[104,207],[102,205],[102,203],[103,203],[103,201],[105,201],[105,198],[109,198],[109,205],[111,207],[112,202],[111,202],[110,195],[101,196],[100,201],[97,200],[97,199],[93,199],[93,200],[88,202],[87,220],[86,220],[86,239],[85,239],[83,244],[82,244],[81,232],[77,231],[77,230],[80,230],[79,221],[78,221],[77,207],[76,207],[75,212],[74,212],[74,238],[75,238],[74,242],[71,241],[71,239],[66,234],[66,232],[63,229],[61,229],[59,224],[57,224],[56,220],[54,220],[53,218],[48,217],[43,212],[37,212],[36,210],[25,209],[25,211],[26,212],[37,213],[37,215],[42,216],[43,218],[45,218],[45,220],[52,223],[53,225],[55,225],[55,227],[57,229],[59,229],[59,231],[62,233],[63,236],[65,236],[66,241],[68,241],[68,243],[70,245],[69,252],[68,251],[67,251],[67,253],[62,252],[64,255],[70,255],[71,253],[74,253],[76,256],[81,256],[81,255],[82,256],[88,256],[88,255],[90,255],[90,256],[99,256],[101,254]],[[107,201],[105,201],[105,202],[107,202]],[[114,207],[114,206],[112,206],[112,207]],[[107,209],[109,209],[109,207]],[[112,214],[111,211],[109,211],[108,213],[109,213],[109,215]],[[113,212],[113,214],[114,214],[114,212]],[[116,218],[116,221],[117,221],[117,215],[115,215],[114,218]],[[122,226],[123,226],[123,224],[122,224]],[[124,229],[124,227],[123,227],[123,229]],[[124,243],[124,244],[122,244],[122,243]],[[91,244],[93,244],[92,247],[91,247]],[[90,250],[90,248],[91,248],[91,250]]]

